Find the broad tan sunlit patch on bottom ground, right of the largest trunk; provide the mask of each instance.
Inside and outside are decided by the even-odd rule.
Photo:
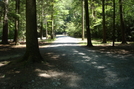
[[[81,81],[81,76],[74,72],[64,72],[55,70],[44,71],[40,69],[36,69],[35,71],[38,72],[39,77],[57,80],[52,82],[52,84],[56,86],[62,86],[62,81],[66,81],[65,84],[69,87],[79,87],[79,82]]]

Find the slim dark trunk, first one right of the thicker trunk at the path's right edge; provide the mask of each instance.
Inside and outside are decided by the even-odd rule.
[[[103,41],[102,43],[107,43],[106,41],[106,23],[105,23],[105,0],[102,0],[102,14],[103,14]]]

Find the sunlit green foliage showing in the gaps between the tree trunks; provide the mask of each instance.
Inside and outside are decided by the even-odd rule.
[[[37,24],[40,33],[41,22],[43,22],[43,32],[46,27],[48,34],[51,34],[52,18],[54,18],[54,30],[57,32],[67,32],[70,36],[82,36],[82,2],[81,0],[36,0],[37,4]],[[116,39],[121,39],[119,3],[116,1]],[[0,37],[3,28],[3,5],[0,1]],[[9,38],[13,38],[15,29],[15,19],[20,20],[19,38],[25,36],[26,17],[25,0],[20,3],[20,14],[15,13],[15,0],[9,2]],[[113,31],[113,2],[106,0],[106,30],[107,39],[112,39]],[[102,38],[102,1],[89,0],[90,28],[93,38]],[[126,38],[134,40],[134,0],[123,0],[123,15],[125,21]],[[46,25],[46,23],[48,23]]]

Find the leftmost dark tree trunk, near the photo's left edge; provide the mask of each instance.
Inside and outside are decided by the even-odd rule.
[[[2,44],[8,44],[8,0],[4,0],[4,20],[3,20],[3,35]]]

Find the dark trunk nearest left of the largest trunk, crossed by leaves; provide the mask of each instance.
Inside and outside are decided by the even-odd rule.
[[[16,0],[16,14],[20,14],[20,0]],[[18,30],[19,30],[19,17],[15,19],[15,34],[14,34],[14,42],[18,43]]]

